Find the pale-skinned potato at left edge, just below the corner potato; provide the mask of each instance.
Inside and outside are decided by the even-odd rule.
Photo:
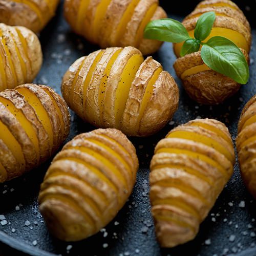
[[[27,28],[0,23],[0,91],[32,82],[41,65],[37,36]]]

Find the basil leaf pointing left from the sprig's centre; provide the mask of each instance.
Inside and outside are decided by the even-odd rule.
[[[167,42],[183,42],[190,38],[183,24],[172,18],[152,20],[144,30],[144,37]]]

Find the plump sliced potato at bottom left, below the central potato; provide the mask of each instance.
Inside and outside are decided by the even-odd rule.
[[[39,209],[50,232],[65,241],[97,233],[125,204],[137,169],[135,148],[122,132],[98,129],[76,136],[41,184]]]

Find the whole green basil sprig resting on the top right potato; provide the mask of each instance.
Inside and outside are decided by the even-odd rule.
[[[199,51],[204,63],[212,70],[245,84],[249,79],[249,67],[242,51],[229,39],[222,36],[209,35],[216,19],[215,12],[202,14],[196,24],[194,37],[190,37],[182,23],[175,19],[158,19],[148,23],[144,37],[168,42],[184,42],[180,55]]]

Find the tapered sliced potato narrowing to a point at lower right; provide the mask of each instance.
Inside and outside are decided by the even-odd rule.
[[[214,119],[180,125],[157,144],[151,161],[150,199],[162,247],[196,237],[231,177],[234,163],[228,129]]]

